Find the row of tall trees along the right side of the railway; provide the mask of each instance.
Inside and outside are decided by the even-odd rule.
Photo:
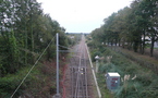
[[[146,39],[150,39],[150,56],[158,40],[158,1],[134,0],[130,7],[112,13],[105,24],[92,32],[98,44],[118,45],[144,54]],[[96,41],[95,41],[96,42]]]

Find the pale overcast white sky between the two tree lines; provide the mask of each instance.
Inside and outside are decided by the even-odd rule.
[[[59,22],[68,33],[90,33],[104,19],[129,7],[133,0],[37,0],[45,13]]]

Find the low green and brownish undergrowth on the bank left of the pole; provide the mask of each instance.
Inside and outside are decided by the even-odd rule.
[[[5,77],[0,77],[0,98],[10,98],[31,68],[27,65],[15,74],[8,74]],[[53,89],[56,89],[52,72],[53,69],[49,68],[49,65],[38,63],[17,89],[13,98],[24,97],[24,95],[37,98],[50,97],[50,90],[53,93]]]

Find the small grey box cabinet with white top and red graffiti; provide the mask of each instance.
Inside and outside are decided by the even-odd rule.
[[[114,90],[120,86],[119,73],[107,73],[106,75],[107,87],[110,90]]]

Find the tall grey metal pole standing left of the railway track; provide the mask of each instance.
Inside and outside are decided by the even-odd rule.
[[[59,95],[59,36],[57,33],[57,95]]]

